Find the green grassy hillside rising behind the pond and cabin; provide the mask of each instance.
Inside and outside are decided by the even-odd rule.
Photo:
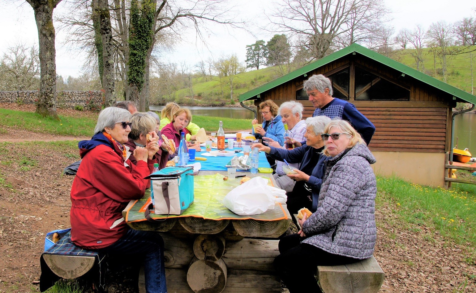
[[[415,58],[412,57],[412,53],[414,52],[414,49],[393,51],[391,57],[400,63],[417,69]],[[472,74],[469,57],[469,53],[447,57],[446,82],[468,93],[471,93]],[[475,72],[476,75],[476,52],[471,53],[471,57],[473,57],[473,67],[475,68],[473,72]],[[435,62],[430,48],[424,49],[423,60],[424,73],[443,81],[441,61],[438,57],[436,57]],[[423,70],[420,68],[420,71]],[[276,67],[267,67],[259,70],[240,73],[236,75],[233,80],[233,99],[230,99],[230,86],[228,77],[225,77],[222,80],[221,86],[218,76],[213,76],[213,80],[211,81],[209,80],[209,77],[208,81],[206,81],[204,77],[195,77],[192,80],[193,93],[196,96],[193,104],[235,104],[238,102],[239,95],[246,93],[260,85],[268,83],[279,76],[278,68]],[[174,93],[174,96],[176,97],[175,100],[180,104],[192,104],[191,99],[188,97],[189,95],[188,88],[178,89]]]

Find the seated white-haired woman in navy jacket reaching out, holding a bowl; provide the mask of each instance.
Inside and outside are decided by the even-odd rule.
[[[307,118],[306,133],[304,134],[306,143],[293,150],[279,148],[276,142],[270,142],[269,146],[264,146],[261,143],[255,143],[252,146],[258,147],[260,151],[265,151],[270,158],[278,161],[286,160],[291,164],[301,163],[299,169],[293,169],[296,174],[287,175],[289,178],[296,180],[293,190],[286,193],[288,196],[286,206],[291,215],[297,214],[297,211],[303,207],[311,211],[317,209],[324,161],[326,159],[326,156],[321,154],[324,149],[321,133],[324,132],[327,123],[330,121],[330,118],[327,116]],[[293,221],[295,221],[294,218]]]

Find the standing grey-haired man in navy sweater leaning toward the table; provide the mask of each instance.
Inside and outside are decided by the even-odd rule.
[[[309,95],[309,101],[316,107],[312,117],[339,117],[347,120],[362,135],[365,142],[370,142],[375,132],[375,126],[353,104],[332,97],[330,80],[322,74],[313,75],[304,82],[304,90]]]

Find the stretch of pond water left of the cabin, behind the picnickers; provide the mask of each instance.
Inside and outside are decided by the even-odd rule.
[[[162,110],[164,106],[149,105],[150,110]],[[184,106],[192,112],[192,115],[225,117],[234,119],[249,119],[255,118],[255,113],[243,107],[189,107]]]

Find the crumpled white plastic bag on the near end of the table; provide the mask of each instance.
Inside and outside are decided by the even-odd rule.
[[[254,177],[228,192],[223,205],[240,216],[258,215],[274,209],[275,202],[286,203],[286,191],[268,186],[268,180]]]

